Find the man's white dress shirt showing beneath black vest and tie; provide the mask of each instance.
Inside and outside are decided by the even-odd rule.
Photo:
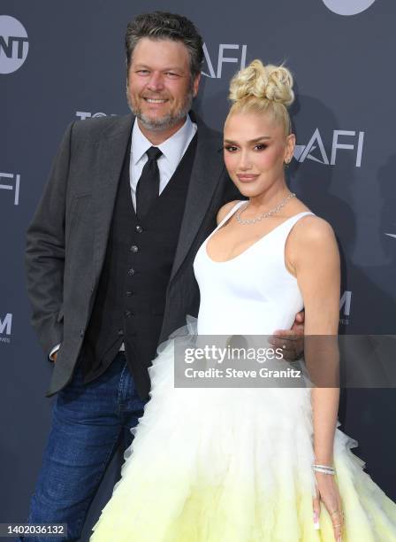
[[[133,123],[132,139],[131,139],[131,159],[129,162],[129,182],[131,183],[131,193],[133,207],[136,211],[136,187],[141,178],[141,170],[148,161],[146,152],[152,146],[158,147],[162,151],[162,155],[157,160],[159,169],[159,193],[164,190],[165,186],[171,180],[176,168],[179,166],[180,160],[187,151],[188,145],[195,136],[196,124],[187,115],[186,122],[173,136],[169,137],[160,145],[153,145],[148,141],[146,136],[141,133],[139,122]],[[50,360],[55,352],[59,350],[60,345],[56,345],[50,351]],[[124,350],[124,344],[121,345],[121,350]]]

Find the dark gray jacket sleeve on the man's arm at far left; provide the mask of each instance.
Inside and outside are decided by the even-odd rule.
[[[65,206],[71,146],[71,124],[65,131],[50,176],[27,228],[27,293],[31,322],[47,355],[63,340]]]

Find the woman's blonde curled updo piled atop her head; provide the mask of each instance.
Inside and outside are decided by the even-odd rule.
[[[229,96],[232,113],[269,113],[285,128],[285,136],[292,133],[287,107],[293,104],[293,77],[284,66],[264,66],[253,60],[232,77]]]

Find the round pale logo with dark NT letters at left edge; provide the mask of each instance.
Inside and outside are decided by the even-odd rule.
[[[0,74],[16,72],[27,59],[27,31],[18,19],[0,15]]]

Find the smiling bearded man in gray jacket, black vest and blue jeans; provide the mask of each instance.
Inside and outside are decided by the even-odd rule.
[[[194,25],[141,15],[126,59],[136,120],[66,130],[27,232],[32,321],[57,393],[29,523],[67,523],[54,540],[80,538],[119,439],[131,443],[156,346],[198,312],[195,253],[220,206],[240,197],[222,137],[188,114],[203,59]]]

